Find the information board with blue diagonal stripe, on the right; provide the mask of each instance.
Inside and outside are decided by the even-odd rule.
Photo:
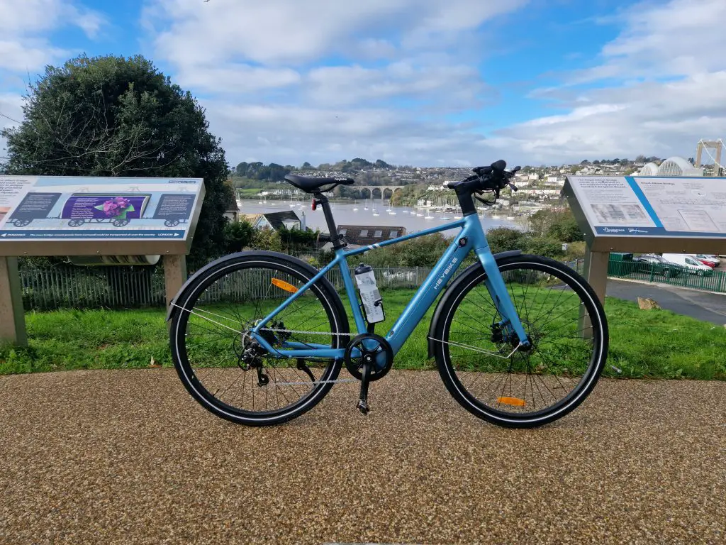
[[[726,252],[726,179],[569,176],[592,251]]]

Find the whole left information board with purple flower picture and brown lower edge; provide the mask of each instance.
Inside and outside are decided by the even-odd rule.
[[[187,254],[203,196],[198,178],[0,176],[0,255]]]

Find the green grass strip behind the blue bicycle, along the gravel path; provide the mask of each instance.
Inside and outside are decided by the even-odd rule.
[[[386,322],[377,331],[388,331],[412,294],[383,291]],[[726,328],[619,299],[608,298],[605,311],[611,332],[605,376],[726,380]],[[396,368],[435,368],[426,343],[432,313],[396,356]],[[152,358],[171,366],[164,316],[163,310],[29,312],[29,346],[0,347],[0,374],[147,368]]]

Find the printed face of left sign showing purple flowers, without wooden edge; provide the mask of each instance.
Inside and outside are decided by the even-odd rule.
[[[186,241],[202,179],[0,176],[0,241]]]

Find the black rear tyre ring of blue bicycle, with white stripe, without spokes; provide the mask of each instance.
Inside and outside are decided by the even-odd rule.
[[[279,270],[285,270],[290,276],[298,278],[301,283],[307,283],[318,272],[314,267],[300,259],[269,251],[240,252],[207,265],[193,275],[192,278],[189,278],[181,288],[179,296],[174,299],[169,314],[171,321],[171,355],[181,383],[184,384],[187,392],[192,395],[197,403],[200,403],[205,409],[216,416],[237,424],[272,426],[297,418],[314,408],[333,387],[333,383],[330,381],[338,378],[342,361],[331,359],[325,374],[319,379],[325,382],[315,385],[309,395],[302,397],[297,403],[287,405],[277,411],[246,411],[223,403],[203,387],[189,363],[186,350],[187,320],[192,313],[184,312],[184,310],[192,310],[195,302],[200,299],[205,289],[219,278],[223,278],[224,275],[234,273],[237,270],[254,269],[256,267],[275,267]],[[337,334],[332,336],[333,347],[346,346],[347,334],[349,333],[348,317],[335,288],[328,280],[322,278],[314,283],[309,290],[322,303],[330,320],[331,331],[333,334]]]

